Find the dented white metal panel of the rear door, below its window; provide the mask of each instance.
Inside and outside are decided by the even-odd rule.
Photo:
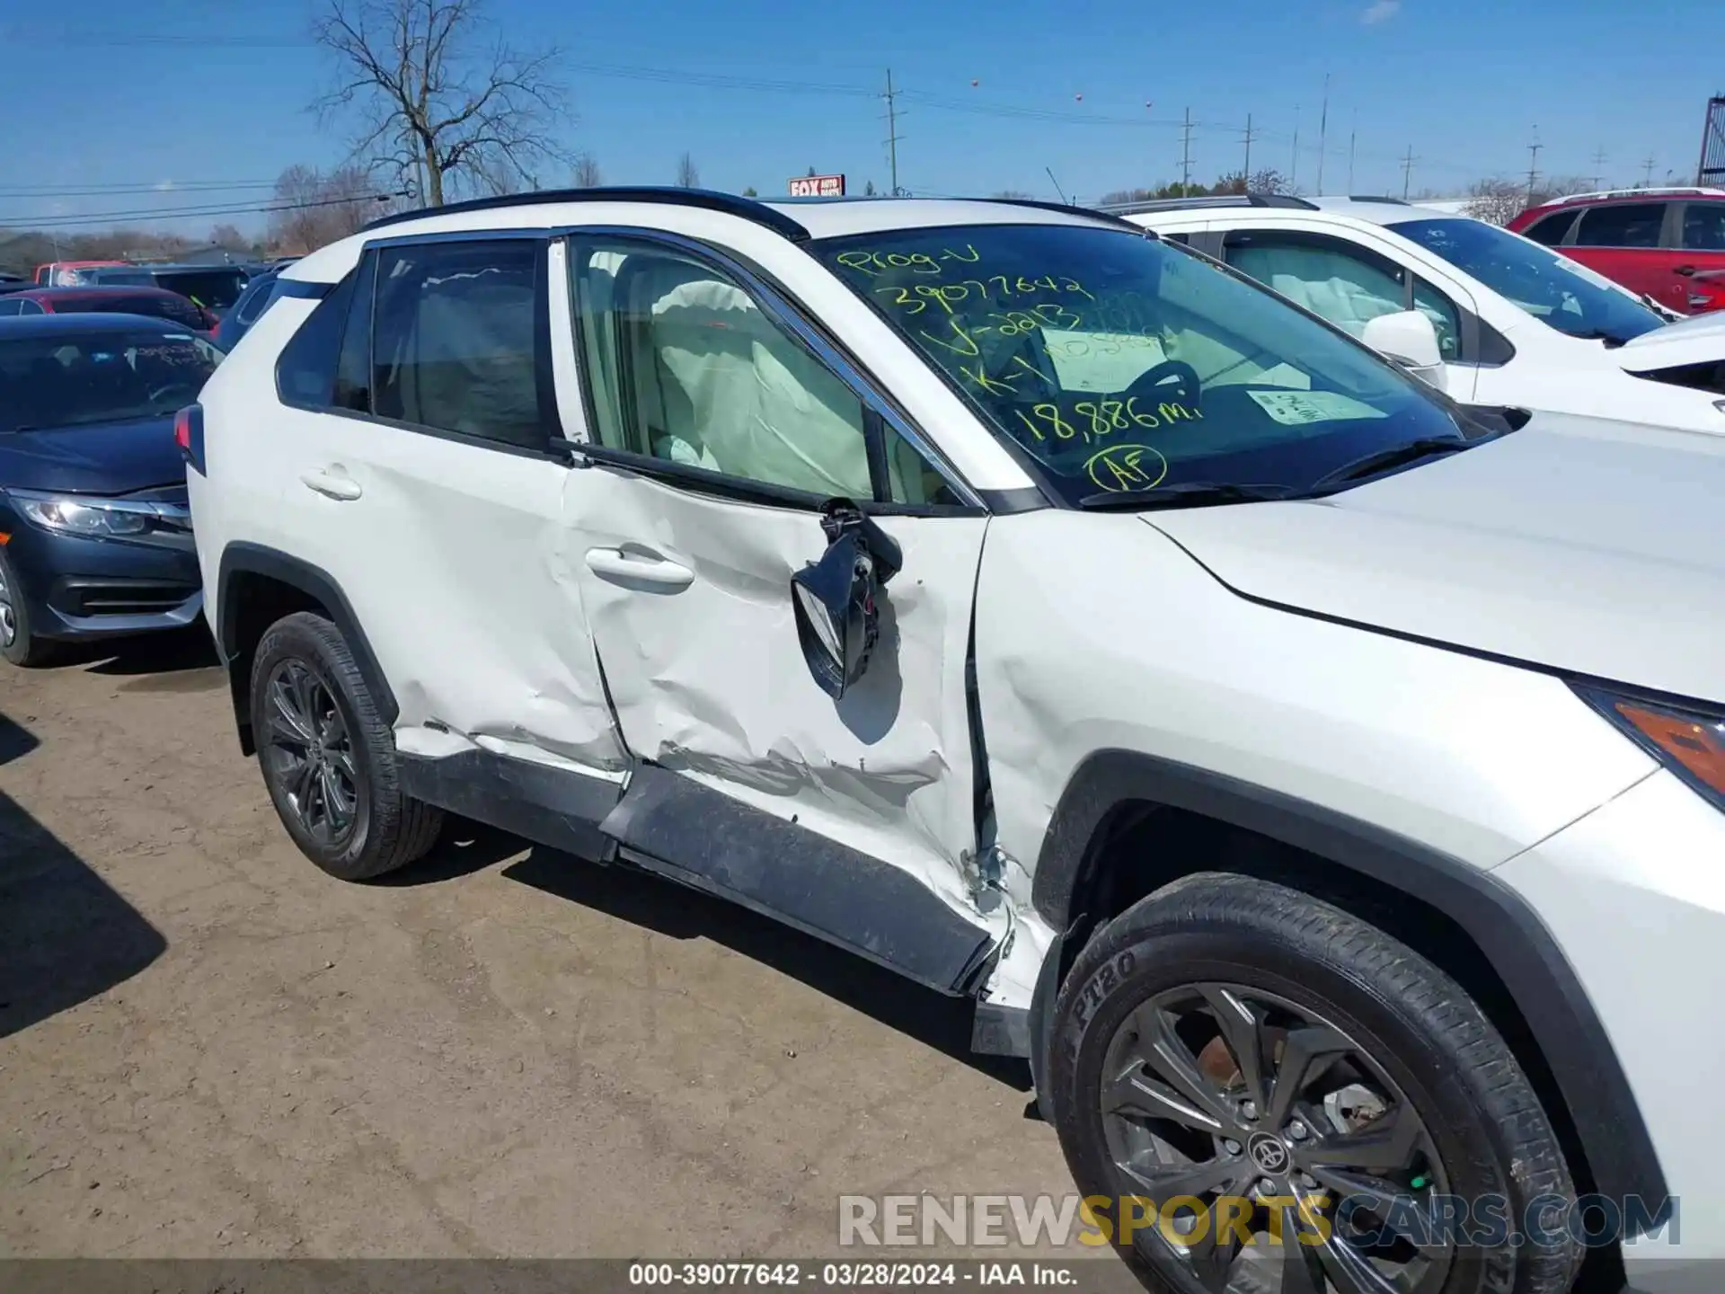
[[[304,495],[316,511],[316,525],[309,519],[298,533],[316,533],[329,549],[317,564],[352,581],[355,606],[378,607],[366,633],[400,704],[404,749],[416,747],[412,730],[433,721],[585,769],[621,771],[580,581],[564,562],[568,468],[323,421],[342,431],[328,471],[352,476],[364,499],[331,504],[290,487],[295,502]],[[354,561],[355,550],[373,561]],[[438,742],[417,745],[430,752]]]

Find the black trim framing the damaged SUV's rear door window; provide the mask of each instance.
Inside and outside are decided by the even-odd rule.
[[[281,357],[276,357],[276,399],[281,404],[300,409],[312,414],[329,414],[335,418],[348,418],[355,423],[374,423],[378,426],[386,426],[397,431],[412,431],[423,437],[436,437],[438,440],[450,440],[457,445],[473,445],[474,449],[497,450],[500,454],[512,454],[516,457],[542,459],[549,462],[569,462],[569,445],[568,433],[562,426],[562,414],[557,409],[555,390],[552,386],[552,343],[550,343],[550,243],[552,238],[545,229],[461,229],[454,233],[423,233],[423,235],[404,235],[397,238],[367,238],[361,248],[359,259],[354,267],[342,276],[340,283],[328,285],[323,293],[319,293],[317,304],[312,312],[324,309],[328,298],[340,297],[342,292],[348,290],[350,285],[357,283],[367,261],[376,261],[383,250],[404,248],[404,247],[426,247],[435,243],[450,242],[536,242],[536,255],[533,262],[533,380],[538,395],[540,421],[545,430],[545,443],[538,445],[519,445],[511,440],[497,440],[493,437],[473,435],[469,431],[450,431],[440,426],[424,426],[423,423],[409,423],[397,418],[385,418],[369,411],[359,409],[340,409],[333,404],[335,400],[335,369],[329,374],[329,395],[323,404],[312,404],[305,400],[290,400],[281,390]],[[286,280],[293,283],[295,280]],[[319,285],[323,286],[323,285]],[[373,331],[373,336],[366,340],[367,371],[371,371],[371,385],[376,388],[376,286],[378,276],[373,274],[373,309],[366,311],[366,324]],[[285,293],[300,295],[300,293]],[[352,300],[342,304],[342,321],[336,328],[335,357],[336,364],[342,359],[342,349],[347,342],[347,324],[352,312]],[[300,323],[300,328],[310,321],[310,314]],[[295,330],[295,336],[298,330]],[[292,345],[292,338],[288,345]],[[283,347],[283,354],[286,347]]]

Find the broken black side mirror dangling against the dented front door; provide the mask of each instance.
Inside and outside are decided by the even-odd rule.
[[[833,700],[868,671],[880,637],[875,595],[899,573],[904,552],[849,499],[823,509],[826,552],[790,576],[802,659]]]

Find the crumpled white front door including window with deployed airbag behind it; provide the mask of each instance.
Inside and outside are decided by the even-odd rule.
[[[569,562],[630,752],[961,906],[987,516],[747,271],[633,236],[571,238],[568,266],[593,457],[568,474]],[[790,592],[835,497],[878,500],[904,556],[837,702]]]

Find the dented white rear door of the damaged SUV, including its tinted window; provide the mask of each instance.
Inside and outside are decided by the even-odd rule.
[[[621,780],[561,552],[545,257],[521,231],[369,245],[285,349],[255,452],[279,455],[273,511],[354,607],[404,751]]]

